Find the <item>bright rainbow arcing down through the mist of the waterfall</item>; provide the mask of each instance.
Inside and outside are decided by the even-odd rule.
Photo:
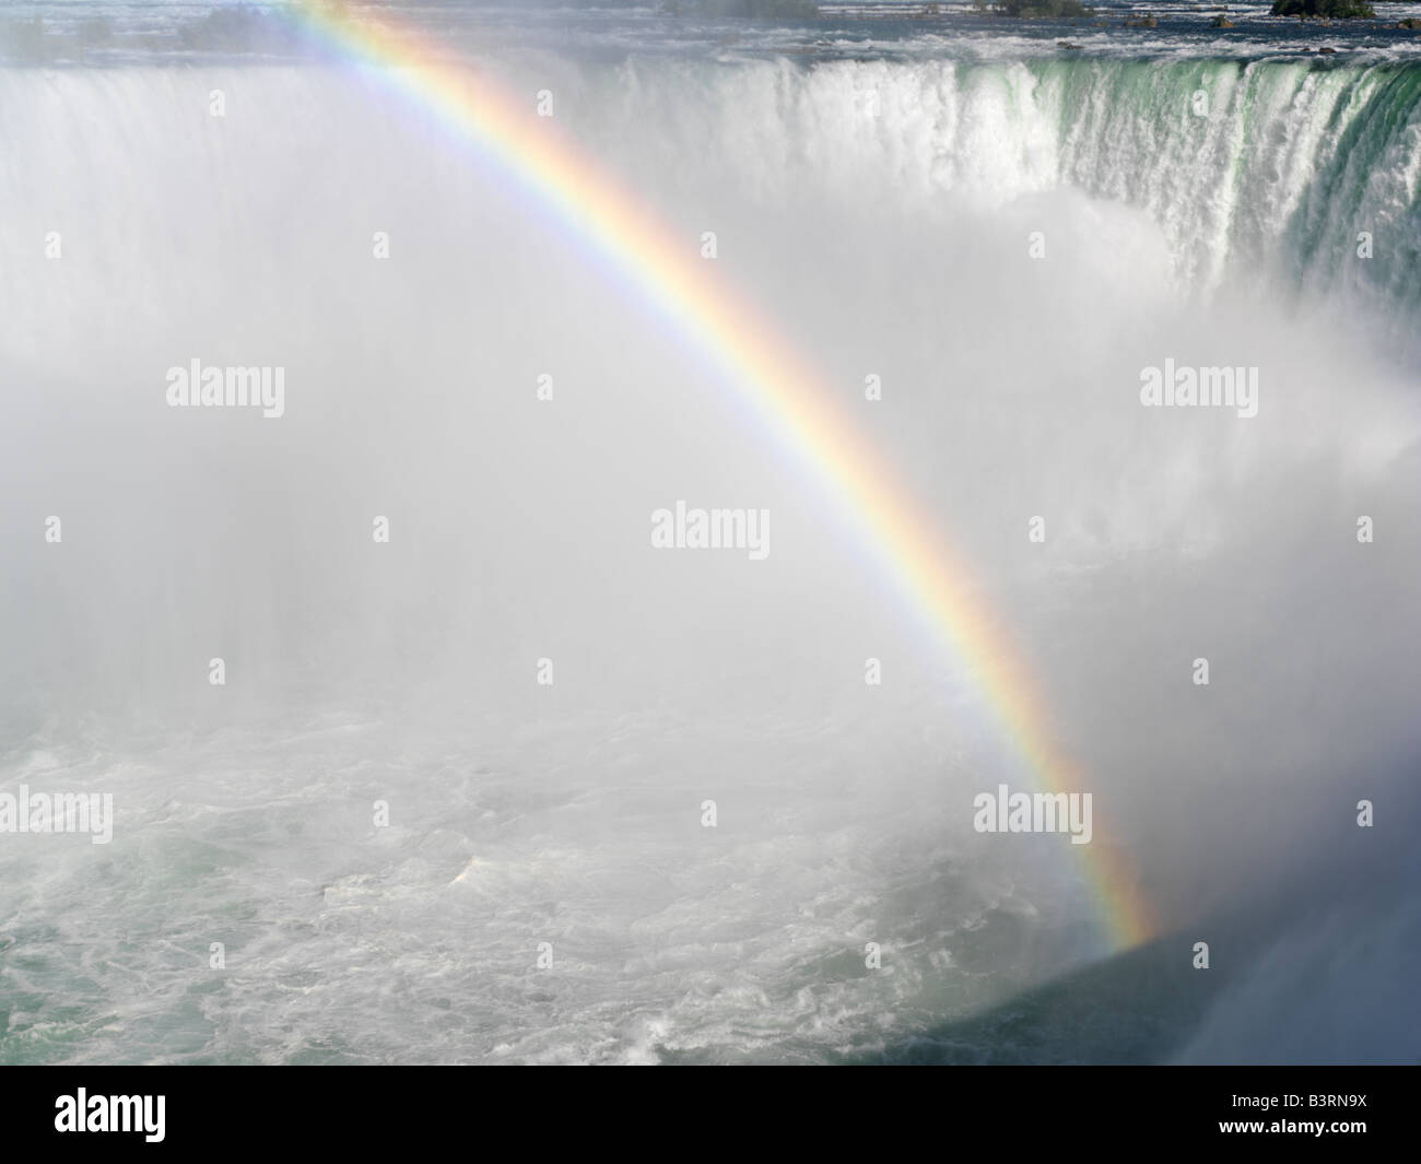
[[[739,388],[762,421],[836,497],[881,568],[992,708],[1042,792],[1080,789],[1079,773],[1053,745],[1050,718],[1012,637],[975,590],[963,563],[894,480],[809,367],[764,317],[710,273],[684,233],[595,158],[536,115],[536,95],[510,92],[426,34],[384,14],[355,16],[318,0],[296,0],[290,16],[340,55],[388,70],[391,84],[441,118],[516,182],[574,237],[600,253]],[[1155,932],[1121,850],[1097,840],[1070,846],[1107,938],[1117,949]]]

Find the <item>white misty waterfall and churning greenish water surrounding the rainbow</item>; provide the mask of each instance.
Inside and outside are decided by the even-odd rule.
[[[1421,1053],[1421,36],[406,14],[925,506],[1158,914],[1113,956],[1076,847],[972,830],[1033,773],[841,499],[496,159],[279,16],[0,16],[0,792],[115,810],[0,833],[0,1060]],[[769,557],[652,550],[678,499]]]

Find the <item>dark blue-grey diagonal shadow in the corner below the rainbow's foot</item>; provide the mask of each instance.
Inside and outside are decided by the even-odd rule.
[[[1417,866],[1388,847],[1319,861],[1260,902],[834,1062],[1415,1063]]]

